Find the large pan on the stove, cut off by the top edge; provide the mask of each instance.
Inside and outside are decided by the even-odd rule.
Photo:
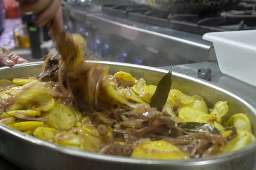
[[[185,14],[210,14],[241,0],[147,0],[151,8]]]

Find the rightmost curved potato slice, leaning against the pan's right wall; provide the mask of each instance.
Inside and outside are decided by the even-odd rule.
[[[238,113],[227,120],[228,126],[235,126],[237,130],[247,130],[253,133],[250,119],[244,113]]]

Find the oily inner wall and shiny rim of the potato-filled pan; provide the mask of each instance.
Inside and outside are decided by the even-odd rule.
[[[87,61],[87,62],[99,62],[99,61]],[[152,68],[141,65],[131,65],[116,62],[100,62],[110,67],[110,74],[114,74],[118,71],[125,71],[130,73],[134,78],[143,77],[147,84],[157,85],[160,79],[168,72],[163,69]],[[43,62],[33,62],[23,65],[16,65],[12,68],[0,68],[0,79],[21,78],[21,77],[35,77],[38,75]],[[250,104],[248,104],[242,97],[233,92],[225,90],[224,88],[213,85],[201,79],[186,76],[173,72],[173,84],[172,88],[182,91],[185,94],[195,95],[198,94],[206,99],[207,105],[213,107],[218,101],[227,101],[229,105],[229,111],[227,117],[230,117],[233,113],[245,113],[250,121],[252,122],[253,134],[256,135],[256,110]],[[8,133],[9,135],[15,136],[25,142],[32,142],[32,144],[40,145],[41,147],[47,147],[55,152],[61,152],[64,154],[70,154],[83,159],[99,160],[104,162],[114,163],[127,163],[127,164],[157,164],[157,165],[168,165],[168,166],[199,166],[214,164],[218,162],[228,161],[236,159],[246,154],[252,153],[256,150],[256,142],[253,142],[247,147],[242,148],[231,153],[225,153],[217,156],[211,156],[204,159],[191,159],[191,160],[142,160],[142,159],[131,159],[127,157],[119,156],[106,156],[96,153],[87,153],[80,150],[73,150],[67,147],[62,147],[56,144],[45,142],[41,139],[37,139],[33,136],[24,135],[22,132],[12,130],[10,127],[0,124],[0,133]],[[0,148],[1,150],[1,148]],[[0,151],[1,152],[1,151]]]

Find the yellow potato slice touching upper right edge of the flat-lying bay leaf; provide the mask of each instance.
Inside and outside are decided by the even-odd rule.
[[[223,127],[220,123],[214,121],[216,119],[217,119],[216,115],[205,114],[205,115],[198,116],[198,118],[195,119],[195,122],[208,123],[220,131],[225,131],[226,130],[225,127]]]

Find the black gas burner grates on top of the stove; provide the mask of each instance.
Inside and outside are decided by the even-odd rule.
[[[172,14],[137,4],[107,4],[102,6],[102,11],[113,16],[195,34],[256,29],[256,1],[253,0],[243,0],[230,11],[208,16]]]

